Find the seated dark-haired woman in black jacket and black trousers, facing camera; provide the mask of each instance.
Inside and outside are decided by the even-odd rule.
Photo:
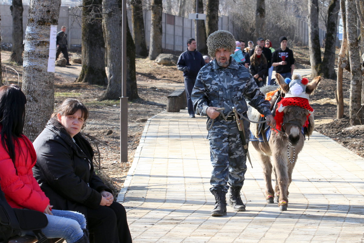
[[[34,177],[55,209],[85,215],[90,242],[131,243],[126,211],[96,176],[93,149],[80,134],[87,117],[87,108],[78,100],[62,103],[33,142]]]

